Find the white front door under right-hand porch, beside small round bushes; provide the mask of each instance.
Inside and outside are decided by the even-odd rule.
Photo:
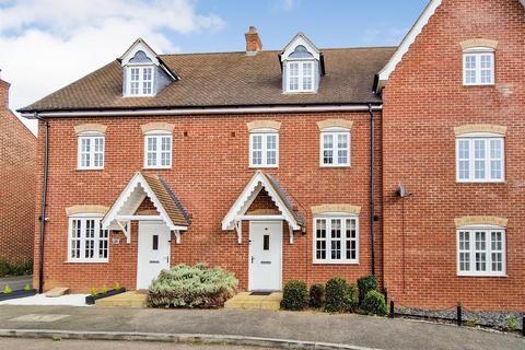
[[[282,289],[282,221],[249,222],[248,290]]]

